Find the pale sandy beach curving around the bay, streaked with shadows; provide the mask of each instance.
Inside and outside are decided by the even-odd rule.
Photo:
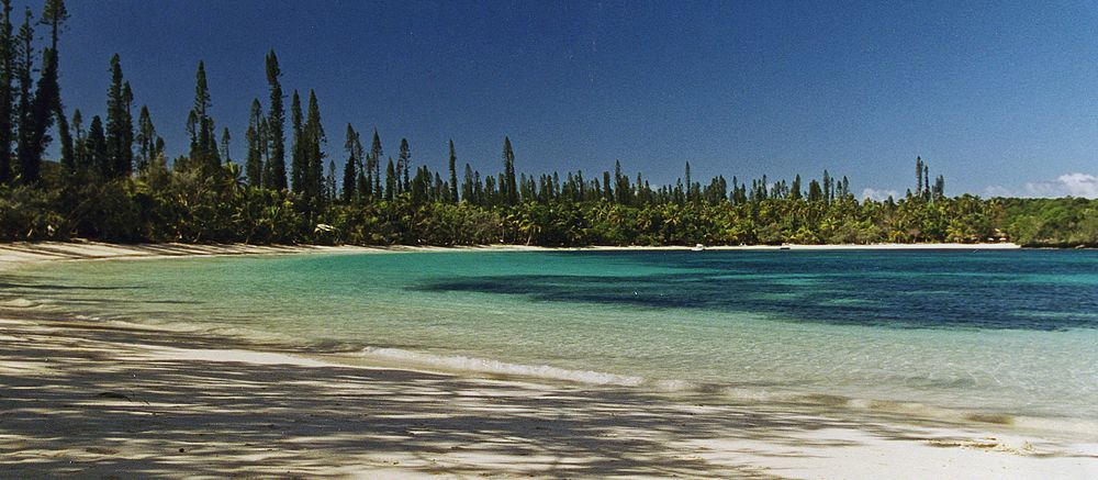
[[[29,263],[410,249],[7,244],[0,283]],[[1098,445],[993,424],[348,365],[33,299],[0,319],[2,478],[1098,477]]]

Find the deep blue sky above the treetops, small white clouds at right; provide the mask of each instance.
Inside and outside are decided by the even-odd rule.
[[[1095,0],[67,3],[66,108],[103,114],[119,53],[169,156],[201,59],[245,157],[273,48],[287,94],[316,91],[340,167],[350,123],[433,169],[452,138],[459,165],[498,171],[507,135],[526,172],[828,169],[879,197],[914,188],[920,156],[950,194],[1098,197]]]

